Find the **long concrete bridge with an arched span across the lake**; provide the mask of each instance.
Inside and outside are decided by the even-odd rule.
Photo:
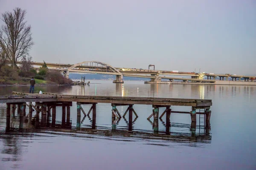
[[[21,64],[21,62],[18,62]],[[43,65],[43,62],[32,62],[32,65],[38,69],[36,66]],[[89,74],[108,74],[108,75],[116,75],[116,80],[114,83],[123,83],[123,77],[141,77],[141,78],[149,78],[150,82],[161,82],[162,79],[169,79],[170,82],[175,80],[181,80],[183,82],[215,82],[216,77],[220,77],[221,80],[228,80],[229,77],[232,80],[236,81],[239,78],[244,78],[245,81],[254,81],[256,78],[253,76],[238,76],[238,75],[230,75],[230,74],[204,74],[204,73],[195,73],[195,72],[180,72],[180,71],[161,71],[161,70],[148,70],[148,69],[137,69],[137,68],[115,68],[107,63],[99,62],[99,61],[85,61],[80,62],[74,65],[71,64],[58,64],[58,63],[46,63],[48,69],[50,70],[58,70],[61,71],[64,76],[68,77],[71,72],[73,73],[89,73]],[[180,77],[166,77],[166,75],[172,76],[185,76],[188,78],[180,78]],[[203,79],[204,76],[207,76],[207,79]]]

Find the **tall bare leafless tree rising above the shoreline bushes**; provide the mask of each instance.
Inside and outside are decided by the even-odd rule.
[[[7,54],[13,67],[21,57],[28,55],[34,44],[32,41],[31,26],[26,26],[26,10],[13,9],[13,12],[2,14],[3,25],[0,28],[0,46]]]

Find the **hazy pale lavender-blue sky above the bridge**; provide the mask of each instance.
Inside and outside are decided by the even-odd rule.
[[[256,74],[256,0],[0,0],[15,7],[37,62]]]

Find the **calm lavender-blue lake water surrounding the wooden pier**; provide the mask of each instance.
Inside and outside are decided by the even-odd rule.
[[[0,170],[26,169],[256,169],[256,86],[221,85],[145,85],[126,81],[90,81],[90,86],[37,86],[35,91],[102,96],[144,96],[212,99],[211,129],[197,117],[196,134],[190,131],[189,114],[171,114],[171,135],[165,134],[165,116],[159,133],[146,118],[151,105],[134,105],[139,115],[133,133],[128,133],[128,115],[111,125],[111,105],[97,104],[96,130],[92,121],[81,117],[76,128],[76,103],[71,107],[71,124],[37,127],[28,124],[19,130],[19,116],[11,118],[11,132],[6,134],[6,105],[0,104]],[[96,84],[93,84],[96,83]],[[137,90],[139,88],[139,90]],[[0,87],[0,95],[29,91],[28,86]],[[90,106],[83,106],[88,111]],[[126,106],[117,107],[123,114]],[[172,111],[190,111],[191,107],[171,107]],[[160,114],[164,108],[160,108]],[[28,113],[28,108],[26,113]],[[33,112],[33,116],[35,113]],[[40,114],[41,115],[41,114]],[[82,116],[82,115],[81,115]],[[135,116],[134,116],[135,117]],[[199,126],[200,123],[200,126]],[[57,108],[56,124],[61,125]]]

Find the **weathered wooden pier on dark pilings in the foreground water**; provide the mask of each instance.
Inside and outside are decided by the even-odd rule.
[[[32,104],[35,102],[35,105]],[[41,119],[43,123],[50,121],[52,115],[52,125],[55,125],[56,119],[56,107],[62,108],[62,124],[70,124],[70,107],[76,102],[77,108],[77,124],[76,127],[80,128],[81,112],[84,116],[89,116],[92,112],[92,129],[96,129],[96,105],[98,103],[111,103],[112,110],[112,129],[115,129],[116,122],[122,117],[125,118],[128,113],[128,130],[132,130],[133,113],[136,117],[138,113],[133,108],[133,105],[152,105],[152,113],[148,117],[154,118],[153,127],[154,132],[158,132],[158,119],[161,119],[166,114],[166,133],[169,133],[170,129],[170,115],[171,113],[188,113],[191,116],[191,130],[195,133],[196,129],[196,114],[204,115],[205,128],[209,128],[209,121],[211,116],[210,106],[212,106],[212,100],[208,99],[173,99],[173,98],[152,98],[152,97],[119,97],[119,96],[79,96],[79,95],[64,95],[64,94],[28,94],[13,92],[13,95],[0,96],[0,103],[6,103],[6,131],[10,130],[10,115],[11,108],[12,113],[20,113],[20,128],[23,128],[22,118],[26,112],[26,106],[29,107],[29,116],[32,116],[32,112],[36,111],[35,118],[39,119],[39,113],[41,113]],[[17,105],[17,107],[16,107]],[[82,105],[91,105],[88,113],[84,111]],[[123,116],[119,113],[117,106],[127,106]],[[172,111],[171,106],[190,106],[190,112]],[[166,108],[165,111],[159,116],[159,108]],[[203,110],[203,112],[201,112]],[[66,120],[67,117],[67,120]],[[65,122],[66,120],[66,122]]]

